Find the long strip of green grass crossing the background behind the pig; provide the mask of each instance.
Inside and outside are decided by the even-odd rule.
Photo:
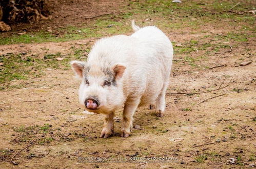
[[[238,2],[238,1],[237,1]],[[102,37],[113,34],[123,34],[131,32],[130,19],[143,20],[151,18],[153,24],[165,31],[179,29],[196,29],[201,28],[205,24],[215,24],[222,22],[230,22],[237,25],[238,23],[246,29],[243,31],[253,31],[255,17],[249,13],[238,15],[235,13],[225,12],[237,2],[232,1],[187,1],[183,3],[172,3],[167,0],[148,0],[129,2],[129,6],[124,7],[124,13],[99,17],[91,21],[90,24],[81,24],[80,26],[67,26],[66,28],[56,28],[53,32],[27,32],[23,35],[14,34],[9,37],[3,37],[0,45],[20,44],[20,43],[45,43],[49,41],[61,42],[68,40],[77,40],[90,37]],[[241,2],[241,1],[240,1]],[[250,2],[250,1],[249,1]],[[130,8],[130,9],[128,9]],[[248,1],[242,1],[240,5],[235,7],[235,11],[247,11],[252,9]],[[225,19],[225,20],[223,20]],[[233,20],[238,23],[234,23]],[[142,26],[148,23],[139,23]],[[108,27],[112,25],[112,27]],[[236,35],[230,33],[227,38],[238,39],[239,41],[247,41],[244,35]],[[195,43],[196,41],[192,41]]]

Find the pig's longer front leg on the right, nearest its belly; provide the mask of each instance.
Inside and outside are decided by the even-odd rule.
[[[135,100],[127,100],[123,112],[123,121],[121,129],[121,137],[128,137],[132,129],[132,116],[140,103],[140,98]]]

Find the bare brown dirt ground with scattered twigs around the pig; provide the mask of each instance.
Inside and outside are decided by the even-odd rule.
[[[1,168],[255,167],[255,38],[221,38],[240,27],[208,23],[196,32],[164,29],[175,51],[166,113],[159,118],[148,107],[138,108],[133,126],[139,126],[128,138],[119,134],[122,109],[115,114],[115,135],[99,137],[104,116],[78,107],[80,81],[69,67],[44,67],[41,76],[33,77],[34,70],[27,79],[5,83],[0,91]],[[68,58],[96,40],[3,45],[0,55],[44,58],[61,53]],[[202,44],[211,44],[207,57]],[[214,51],[220,44],[225,48]],[[181,50],[191,46],[193,51]],[[87,54],[83,51],[80,59]],[[251,63],[240,66],[247,61]]]

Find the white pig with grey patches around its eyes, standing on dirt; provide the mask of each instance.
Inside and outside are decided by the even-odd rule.
[[[97,40],[87,61],[71,61],[82,79],[78,91],[81,106],[105,114],[101,137],[114,134],[113,117],[122,108],[121,137],[131,135],[133,114],[138,106],[155,104],[164,116],[173,48],[169,38],[155,26],[140,28],[132,20],[130,36],[116,35]]]

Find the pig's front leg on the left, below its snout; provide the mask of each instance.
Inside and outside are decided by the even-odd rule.
[[[106,115],[101,137],[108,138],[114,134],[114,113]]]

